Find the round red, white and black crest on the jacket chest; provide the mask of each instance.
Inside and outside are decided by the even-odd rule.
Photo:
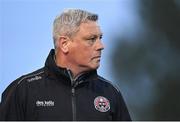
[[[94,107],[100,112],[107,112],[110,110],[109,100],[103,96],[98,96],[94,99]]]

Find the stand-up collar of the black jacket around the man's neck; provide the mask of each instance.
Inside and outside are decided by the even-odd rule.
[[[87,82],[89,79],[92,79],[94,76],[97,76],[97,71],[89,71],[83,74],[80,74],[75,79],[72,79],[71,77],[71,71],[62,68],[56,65],[54,60],[55,50],[51,49],[46,62],[45,62],[45,72],[48,76],[56,77],[58,79],[64,79],[62,80],[65,82],[65,84],[73,86],[74,84],[80,84],[82,82]]]

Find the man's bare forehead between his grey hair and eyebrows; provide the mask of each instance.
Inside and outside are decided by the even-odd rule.
[[[83,35],[102,35],[100,26],[97,22],[88,21],[85,23],[81,23],[79,28],[79,33]]]

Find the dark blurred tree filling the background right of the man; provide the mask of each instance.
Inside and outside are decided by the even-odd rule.
[[[117,37],[112,65],[134,120],[180,120],[180,11],[175,0],[139,0],[142,30]]]

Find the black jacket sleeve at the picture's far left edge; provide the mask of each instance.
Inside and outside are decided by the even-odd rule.
[[[18,80],[12,82],[2,94],[0,120],[24,120],[24,108]]]

